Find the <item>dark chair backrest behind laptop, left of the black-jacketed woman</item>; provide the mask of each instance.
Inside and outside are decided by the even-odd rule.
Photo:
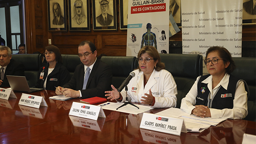
[[[29,87],[35,87],[38,71],[42,67],[41,54],[12,54],[12,59],[23,63]]]

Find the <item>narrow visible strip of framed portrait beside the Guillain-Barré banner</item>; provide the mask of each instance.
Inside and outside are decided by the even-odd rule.
[[[127,29],[128,0],[119,0],[120,29]]]

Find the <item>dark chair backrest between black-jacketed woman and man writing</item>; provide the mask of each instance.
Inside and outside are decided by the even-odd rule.
[[[74,75],[75,67],[82,63],[80,58],[75,54],[62,54],[62,61],[71,77]]]

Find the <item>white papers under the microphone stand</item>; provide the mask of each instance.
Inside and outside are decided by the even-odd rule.
[[[100,104],[100,105],[104,105],[104,106],[102,106],[103,109],[119,111],[119,112],[123,112],[123,113],[131,113],[131,114],[135,114],[135,115],[137,115],[139,113],[144,113],[145,111],[152,109],[152,108],[150,108],[150,106],[134,104],[135,106],[139,107],[139,109],[138,109],[135,106],[127,104],[126,106],[123,106],[122,108],[119,108],[118,110],[116,110],[116,108],[118,108],[119,106],[122,106],[124,103],[118,103],[118,102],[117,103],[106,102],[106,103],[110,103],[110,104],[107,104],[107,105]],[[100,105],[98,105],[98,106],[100,106]]]

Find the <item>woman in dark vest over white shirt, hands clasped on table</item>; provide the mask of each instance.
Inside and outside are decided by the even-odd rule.
[[[243,119],[248,114],[244,81],[230,73],[235,63],[226,48],[211,47],[204,61],[209,75],[199,76],[181,100],[181,109],[198,117]]]

